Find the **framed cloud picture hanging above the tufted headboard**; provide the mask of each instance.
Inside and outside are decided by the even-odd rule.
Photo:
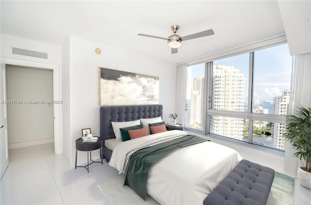
[[[159,104],[159,77],[100,67],[100,106]]]

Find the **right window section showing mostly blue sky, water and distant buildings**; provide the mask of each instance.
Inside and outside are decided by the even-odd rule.
[[[252,143],[284,150],[285,115],[290,102],[292,57],[287,44],[254,52],[252,112],[279,115],[282,121],[253,123]]]

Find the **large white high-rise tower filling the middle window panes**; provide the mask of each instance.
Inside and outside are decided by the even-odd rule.
[[[212,109],[244,111],[245,78],[234,66],[213,66]],[[210,132],[243,139],[243,119],[211,116]]]

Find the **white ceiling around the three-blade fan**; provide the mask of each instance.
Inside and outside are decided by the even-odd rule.
[[[284,35],[277,1],[0,1],[1,33],[54,45],[76,36],[168,62],[180,63]],[[213,29],[183,42],[137,36],[180,36]]]

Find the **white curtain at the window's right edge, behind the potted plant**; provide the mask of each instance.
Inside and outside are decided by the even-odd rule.
[[[293,56],[291,102],[288,114],[295,114],[297,107],[311,107],[311,53]],[[300,160],[293,156],[295,150],[290,142],[285,143],[284,173],[297,176]]]

